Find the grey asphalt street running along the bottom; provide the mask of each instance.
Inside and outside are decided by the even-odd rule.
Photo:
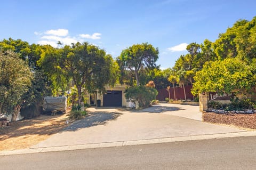
[[[0,157],[1,169],[255,169],[256,136]]]

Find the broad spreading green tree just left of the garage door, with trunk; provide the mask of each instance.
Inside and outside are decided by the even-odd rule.
[[[117,81],[117,63],[97,46],[76,43],[49,50],[39,60],[39,65],[56,86],[67,85],[72,80],[77,88],[79,104],[82,102],[83,87],[88,92],[104,92],[106,85],[114,86]],[[52,62],[50,66],[49,62]]]

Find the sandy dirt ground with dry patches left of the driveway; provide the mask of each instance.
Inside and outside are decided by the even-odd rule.
[[[65,124],[66,114],[21,120],[0,127],[0,151],[25,149],[58,133]]]

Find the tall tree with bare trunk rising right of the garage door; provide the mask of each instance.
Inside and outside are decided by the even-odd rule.
[[[121,70],[121,83],[125,79],[134,80],[140,85],[139,74],[141,70],[149,71],[156,68],[158,60],[158,48],[148,43],[135,44],[122,51],[117,62]]]

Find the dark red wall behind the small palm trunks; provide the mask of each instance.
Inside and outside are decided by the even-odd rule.
[[[186,97],[187,99],[193,100],[193,95],[191,94],[191,88],[192,88],[191,85],[185,86]],[[174,90],[175,90],[175,95],[177,100],[185,100],[183,87],[174,87]],[[174,100],[173,87],[170,88],[170,95],[171,95],[171,99]],[[158,95],[156,96],[157,100],[164,101],[165,98],[168,98],[168,97],[169,97],[169,94],[166,88],[158,90]]]

